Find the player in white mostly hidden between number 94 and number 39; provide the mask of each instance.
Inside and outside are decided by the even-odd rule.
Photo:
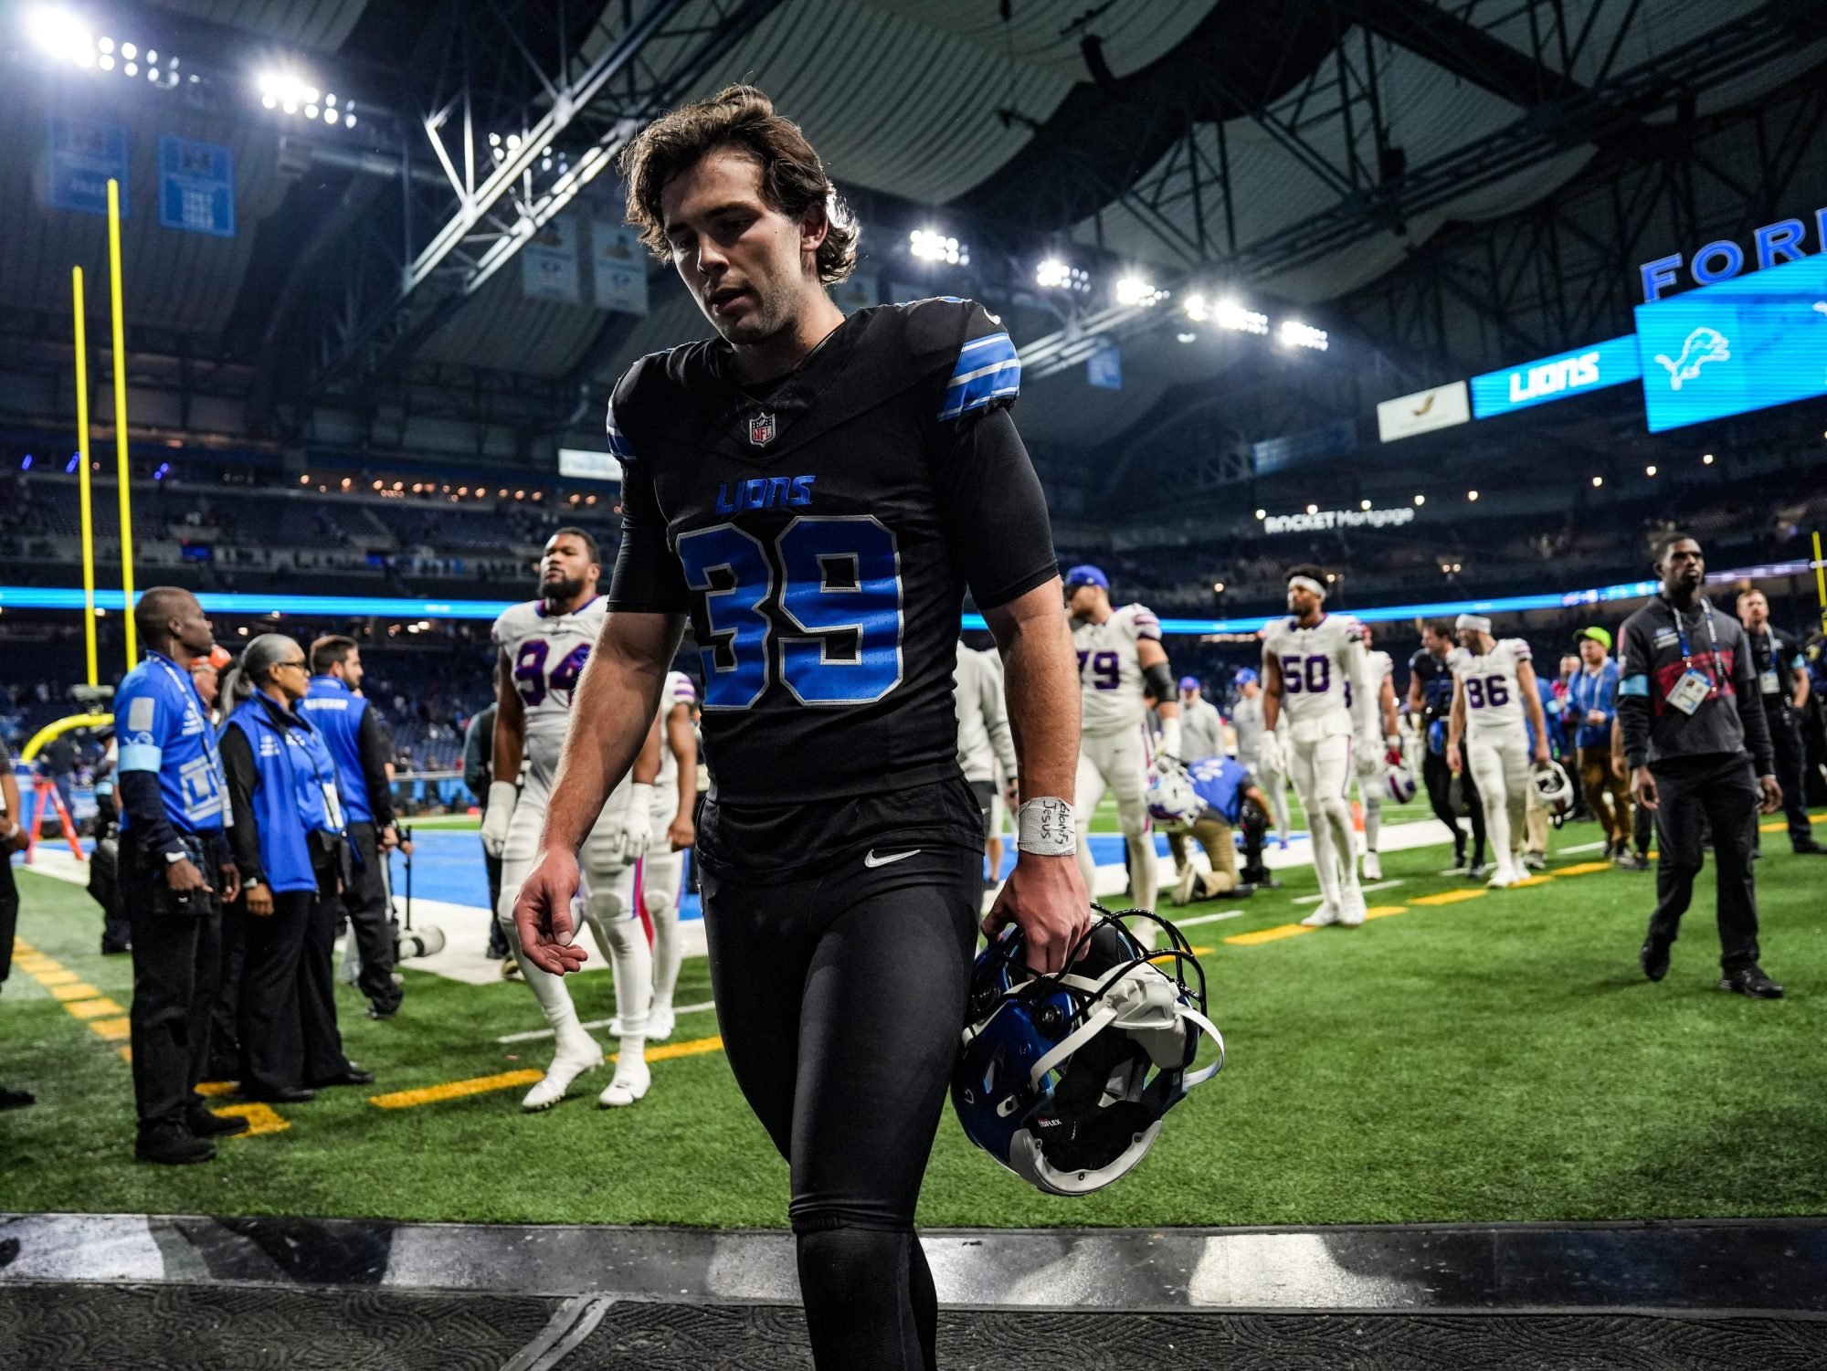
[[[654,936],[654,996],[647,1007],[647,1040],[672,1036],[672,991],[680,983],[680,892],[685,885],[685,852],[698,841],[692,812],[698,808],[698,733],[692,711],[698,687],[683,671],[669,671],[660,689],[660,777],[649,810],[647,856],[639,865],[641,909]],[[621,963],[616,963],[619,974]],[[616,1004],[627,1004],[616,982]],[[621,1036],[621,1015],[608,1024]]]

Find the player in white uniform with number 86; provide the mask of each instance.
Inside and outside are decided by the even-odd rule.
[[[1452,629],[1460,651],[1447,658],[1452,669],[1447,766],[1454,771],[1462,764],[1471,766],[1485,808],[1491,854],[1496,857],[1496,870],[1487,885],[1504,888],[1527,877],[1516,856],[1529,801],[1527,726],[1535,728],[1535,760],[1546,764],[1547,720],[1535,687],[1529,643],[1522,638],[1493,638],[1491,620],[1484,614],[1460,614]]]

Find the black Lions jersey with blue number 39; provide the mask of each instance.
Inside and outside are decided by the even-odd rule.
[[[720,340],[645,356],[616,386],[608,607],[691,616],[723,810],[705,815],[709,863],[784,870],[917,832],[884,793],[952,782],[963,810],[965,589],[994,609],[1058,574],[1009,417],[1019,375],[979,305],[923,300],[851,314],[760,395]]]

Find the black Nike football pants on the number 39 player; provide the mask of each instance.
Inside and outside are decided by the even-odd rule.
[[[914,1206],[965,1024],[983,854],[700,881],[729,1066],[791,1168],[813,1360],[930,1371],[939,1314]]]

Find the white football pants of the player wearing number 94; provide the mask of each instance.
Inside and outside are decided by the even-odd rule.
[[[521,792],[519,804],[513,806],[508,846],[501,854],[501,907],[495,910],[495,918],[506,925],[508,941],[521,962],[521,974],[539,998],[546,1024],[552,1026],[557,1055],[594,1055],[599,1058],[601,1049],[577,1022],[577,1009],[572,1005],[565,980],[535,967],[532,958],[521,951],[521,940],[513,929],[513,901],[519,899],[521,883],[532,870],[539,850],[539,830],[546,821],[546,786],[530,779]],[[647,934],[634,909],[634,866],[621,863],[621,808],[625,802],[618,804],[618,797],[612,795],[577,854],[577,866],[583,874],[585,921],[616,974],[616,1009],[623,1029],[621,1051],[627,1055],[643,1049],[641,1038],[647,1033],[647,1005],[654,972]]]

